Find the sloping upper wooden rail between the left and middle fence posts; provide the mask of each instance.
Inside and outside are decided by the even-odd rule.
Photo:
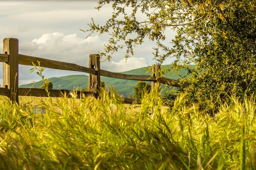
[[[42,67],[46,67],[46,68],[53,68],[58,70],[69,70],[69,71],[80,71],[84,73],[96,74],[96,71],[94,69],[87,68],[81,65],[19,54],[19,64],[21,65],[32,65],[32,62],[34,64],[37,64],[38,61],[40,62],[40,65]]]

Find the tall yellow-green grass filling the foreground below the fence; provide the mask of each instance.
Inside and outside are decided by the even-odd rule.
[[[140,111],[114,93],[75,96],[42,102],[46,114],[0,101],[0,169],[256,169],[254,99],[208,116],[186,95],[171,111],[156,91]]]

